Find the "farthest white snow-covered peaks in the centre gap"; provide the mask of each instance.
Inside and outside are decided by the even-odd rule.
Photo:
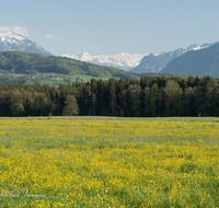
[[[116,67],[116,68],[127,71],[136,67],[137,65],[139,65],[142,57],[146,55],[123,53],[123,54],[117,54],[117,55],[112,55],[112,56],[106,56],[106,55],[92,56],[84,51],[78,56],[69,55],[69,54],[65,54],[61,56],[87,61],[87,62],[92,62],[95,65]]]

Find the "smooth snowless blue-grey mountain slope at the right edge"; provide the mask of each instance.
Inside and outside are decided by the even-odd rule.
[[[219,78],[219,43],[200,50],[191,50],[173,59],[161,73],[193,73]]]

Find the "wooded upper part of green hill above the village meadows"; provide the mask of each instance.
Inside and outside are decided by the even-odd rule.
[[[137,79],[138,76],[113,67],[103,67],[66,57],[45,57],[21,51],[0,51],[0,69],[15,73],[54,72]]]

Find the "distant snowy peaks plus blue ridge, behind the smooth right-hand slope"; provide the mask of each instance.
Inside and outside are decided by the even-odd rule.
[[[158,73],[160,72],[171,60],[176,57],[182,56],[183,54],[189,50],[199,50],[207,47],[210,47],[212,44],[194,44],[188,46],[186,49],[178,48],[173,51],[161,51],[160,54],[128,54],[122,53],[118,55],[96,55],[92,56],[89,53],[82,53],[80,55],[70,55],[65,54],[62,57],[73,58],[81,61],[92,62],[101,66],[116,67],[126,71],[135,72],[135,73]]]

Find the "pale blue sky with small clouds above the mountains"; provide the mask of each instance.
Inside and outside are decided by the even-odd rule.
[[[218,0],[7,0],[10,28],[54,55],[159,54],[219,41]]]

